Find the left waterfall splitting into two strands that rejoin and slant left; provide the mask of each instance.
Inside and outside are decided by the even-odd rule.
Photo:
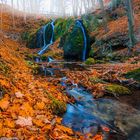
[[[50,43],[49,43],[49,44],[46,44],[46,28],[48,27],[49,24],[51,24],[51,26],[52,26],[52,36],[51,36],[51,39],[50,39]],[[44,54],[45,51],[49,48],[49,46],[53,44],[53,38],[54,38],[54,21],[52,21],[51,23],[48,23],[46,26],[43,27],[44,46],[43,46],[43,48],[38,52],[38,55]]]

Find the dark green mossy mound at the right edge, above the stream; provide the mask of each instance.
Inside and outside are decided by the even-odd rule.
[[[125,74],[125,77],[128,79],[133,78],[134,80],[140,82],[140,68],[128,72],[127,74]]]

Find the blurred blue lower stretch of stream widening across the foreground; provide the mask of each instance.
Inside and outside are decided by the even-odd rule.
[[[67,94],[75,103],[67,105],[62,123],[83,134],[96,135],[102,131],[104,140],[138,140],[140,137],[140,111],[112,99],[94,99],[83,88],[69,87],[67,78],[61,80]],[[104,128],[110,131],[106,132]],[[112,138],[113,137],[113,138]]]

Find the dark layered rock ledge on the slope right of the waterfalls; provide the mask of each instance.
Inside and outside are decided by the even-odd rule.
[[[128,36],[119,32],[112,35],[106,35],[103,38],[98,38],[91,46],[93,51],[92,56],[96,58],[109,56],[114,51],[127,48],[128,42]]]

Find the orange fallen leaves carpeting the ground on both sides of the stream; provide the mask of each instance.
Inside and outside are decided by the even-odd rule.
[[[40,27],[40,19],[35,20],[30,17],[25,24],[20,16],[15,16],[15,27],[13,27],[12,16],[9,12],[3,12],[2,17],[0,137],[16,137],[21,140],[85,139],[79,133],[64,127],[61,124],[62,118],[53,112],[55,110],[54,100],[60,105],[66,104],[70,100],[63,94],[64,88],[59,84],[60,78],[36,76],[33,74],[34,69],[25,61],[26,54],[32,51],[21,42],[20,34],[29,27],[33,29]],[[136,19],[138,20],[138,18]],[[125,25],[122,26],[122,24],[120,26],[124,27]],[[114,26],[110,26],[111,28],[111,32],[114,33]],[[140,43],[133,48],[133,52],[139,51]],[[119,51],[122,54],[126,52],[127,49]],[[134,86],[135,88],[136,81],[130,79],[126,85],[127,79],[123,75],[140,68],[140,56],[133,55],[123,63],[84,65],[83,67],[85,69],[82,71],[64,70],[64,73],[71,79],[70,81],[73,80],[74,83],[84,86],[98,98],[105,94],[104,87],[106,86],[106,83],[98,82],[100,79],[109,84],[124,84],[127,87]],[[128,95],[128,97],[131,96]],[[66,108],[60,108],[60,111],[61,109],[64,111]],[[92,139],[102,140],[102,137],[96,135]]]

